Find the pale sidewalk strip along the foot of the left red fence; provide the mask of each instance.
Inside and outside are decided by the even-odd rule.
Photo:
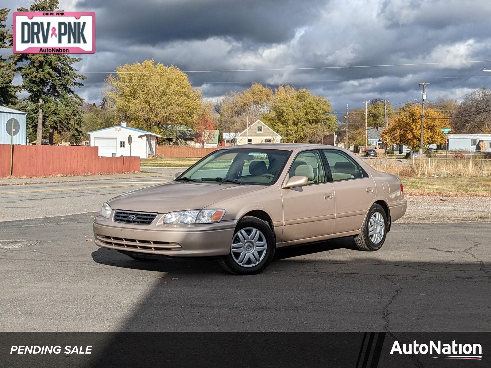
[[[152,177],[174,177],[176,169],[167,167],[152,168],[154,173],[129,173],[129,174],[108,174],[108,175],[83,175],[83,176],[56,176],[48,178],[12,178],[0,179],[1,185],[20,185],[20,184],[49,184],[49,183],[70,183],[70,182],[93,182],[97,180],[115,180],[115,179],[135,179],[135,178],[152,178]]]

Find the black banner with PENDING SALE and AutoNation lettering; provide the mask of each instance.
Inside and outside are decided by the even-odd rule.
[[[490,367],[491,333],[0,333],[1,367]]]

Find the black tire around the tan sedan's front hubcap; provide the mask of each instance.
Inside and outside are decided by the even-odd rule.
[[[253,216],[244,216],[239,220],[239,223],[234,231],[234,236],[232,239],[230,239],[230,242],[232,243],[237,233],[246,228],[257,229],[264,235],[266,240],[266,253],[259,263],[249,267],[242,266],[237,263],[232,256],[232,251],[230,251],[230,253],[226,256],[218,257],[218,263],[220,266],[225,271],[234,275],[253,275],[263,271],[273,260],[274,252],[276,251],[276,240],[274,239],[274,234],[269,224]]]

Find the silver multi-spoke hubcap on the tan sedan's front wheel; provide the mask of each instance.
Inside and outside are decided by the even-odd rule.
[[[263,260],[266,247],[263,233],[255,228],[244,228],[232,238],[232,258],[243,267],[252,267]]]

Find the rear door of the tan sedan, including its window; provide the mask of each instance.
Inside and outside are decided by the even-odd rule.
[[[375,182],[348,154],[333,149],[323,153],[334,189],[334,233],[358,230],[375,198]]]

